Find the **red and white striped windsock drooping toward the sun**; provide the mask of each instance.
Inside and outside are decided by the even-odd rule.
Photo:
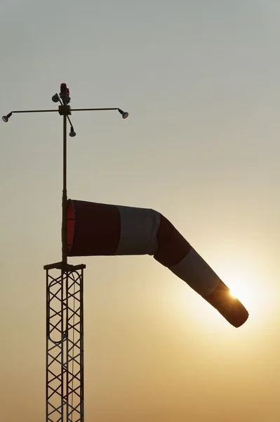
[[[153,255],[235,327],[248,311],[229,288],[159,212],[137,207],[68,200],[69,256]]]

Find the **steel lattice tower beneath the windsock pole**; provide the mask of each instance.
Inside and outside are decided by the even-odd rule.
[[[84,268],[44,267],[47,422],[84,422]]]

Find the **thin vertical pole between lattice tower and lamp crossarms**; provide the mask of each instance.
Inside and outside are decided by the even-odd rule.
[[[67,115],[63,115],[62,262],[67,264]]]

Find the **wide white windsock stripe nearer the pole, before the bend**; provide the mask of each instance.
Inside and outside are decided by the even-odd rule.
[[[154,255],[161,215],[146,208],[118,205],[121,234],[116,255]]]

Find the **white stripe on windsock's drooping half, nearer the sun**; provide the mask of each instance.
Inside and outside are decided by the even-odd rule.
[[[178,264],[169,269],[201,296],[210,295],[221,281],[194,248],[191,248]]]

